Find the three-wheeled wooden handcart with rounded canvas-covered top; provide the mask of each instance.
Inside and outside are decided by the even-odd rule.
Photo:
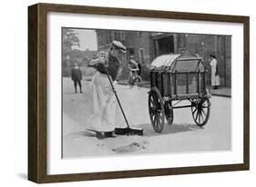
[[[210,117],[208,71],[202,59],[190,54],[160,55],[150,65],[148,112],[154,130],[161,133],[165,120],[173,123],[173,109],[191,108],[194,122],[204,126]],[[178,105],[183,100],[189,105]]]

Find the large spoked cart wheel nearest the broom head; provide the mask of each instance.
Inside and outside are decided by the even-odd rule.
[[[165,123],[165,111],[162,96],[156,87],[151,88],[148,94],[148,112],[155,132],[161,133]]]

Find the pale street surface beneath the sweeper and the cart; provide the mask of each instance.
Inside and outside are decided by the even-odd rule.
[[[174,110],[174,123],[155,133],[148,116],[148,88],[118,85],[117,92],[128,122],[144,129],[143,136],[121,136],[98,140],[88,132],[87,89],[75,94],[73,82],[63,79],[63,157],[108,156],[146,153],[198,153],[230,150],[231,98],[212,96],[209,122],[195,125],[190,108]],[[186,104],[187,101],[181,102]]]

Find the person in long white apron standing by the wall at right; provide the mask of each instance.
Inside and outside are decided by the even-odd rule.
[[[220,85],[220,74],[218,68],[218,61],[214,54],[210,54],[210,67],[211,67],[211,86],[213,89],[218,89]]]

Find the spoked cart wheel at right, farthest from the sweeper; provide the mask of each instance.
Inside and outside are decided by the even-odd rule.
[[[191,101],[191,112],[193,119],[200,127],[204,126],[210,117],[209,99],[195,99]]]

